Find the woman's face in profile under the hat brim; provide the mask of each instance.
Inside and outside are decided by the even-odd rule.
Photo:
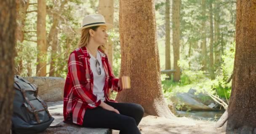
[[[106,26],[99,26],[96,31],[94,31],[93,39],[99,45],[105,45],[107,43],[107,31]]]

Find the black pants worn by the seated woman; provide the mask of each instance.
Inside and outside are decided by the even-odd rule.
[[[119,134],[141,134],[137,127],[144,114],[141,105],[112,102],[107,102],[107,104],[117,109],[120,114],[105,110],[100,106],[87,109],[83,126],[120,130]]]

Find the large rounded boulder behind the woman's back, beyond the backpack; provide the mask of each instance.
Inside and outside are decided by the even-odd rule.
[[[25,77],[38,87],[38,95],[44,101],[62,101],[65,79],[61,77]]]

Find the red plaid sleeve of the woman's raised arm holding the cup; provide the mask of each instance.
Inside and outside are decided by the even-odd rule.
[[[108,66],[108,70],[109,70],[109,88],[112,88],[114,91],[116,92],[120,92],[121,88],[117,86],[119,79],[115,78],[115,75],[112,72],[112,68],[109,64],[109,60],[106,57],[106,62],[107,62],[107,66]]]

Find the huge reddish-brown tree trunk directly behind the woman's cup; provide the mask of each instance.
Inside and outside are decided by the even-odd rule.
[[[171,118],[161,89],[154,0],[120,0],[119,10],[120,75],[131,77],[131,89],[118,93],[116,100],[139,103],[150,115]]]

